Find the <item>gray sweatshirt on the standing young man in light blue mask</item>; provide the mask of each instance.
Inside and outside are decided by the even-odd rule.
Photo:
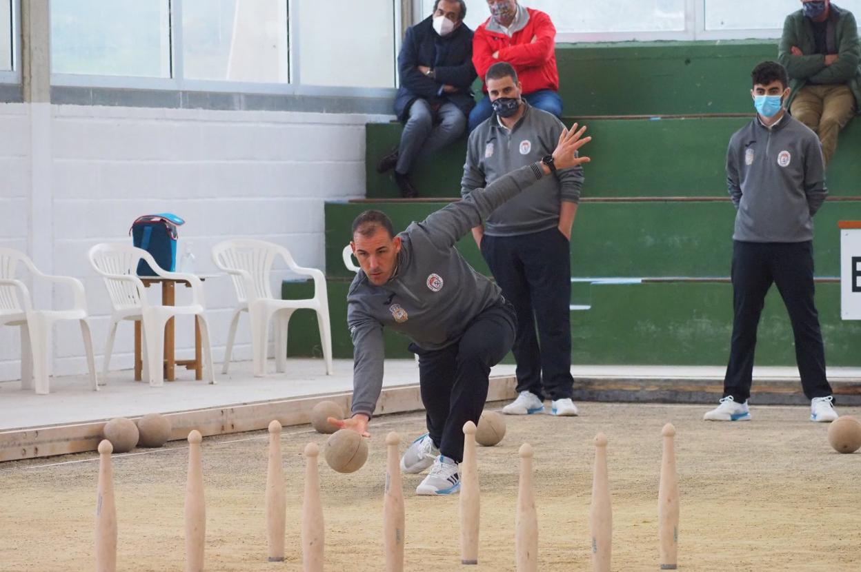
[[[790,114],[771,129],[755,117],[729,140],[727,186],[738,210],[733,240],[813,240],[813,215],[828,194],[819,138]]]

